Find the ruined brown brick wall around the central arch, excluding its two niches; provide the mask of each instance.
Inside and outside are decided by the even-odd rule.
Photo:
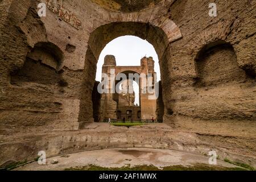
[[[154,10],[151,10],[151,7],[146,7],[142,11],[130,13],[130,15],[129,13],[118,12],[118,10],[103,9],[98,4],[90,1],[45,2],[48,6],[47,17],[45,18],[39,18],[36,14],[35,1],[1,2],[1,7],[8,10],[3,11],[1,16],[1,38],[3,40],[1,42],[3,47],[1,49],[1,61],[3,63],[1,64],[1,100],[4,103],[1,109],[3,115],[5,115],[5,117],[2,117],[2,120],[4,120],[2,123],[6,123],[5,125],[10,122],[10,118],[15,121],[18,119],[17,117],[22,117],[20,114],[16,118],[11,117],[11,115],[16,115],[16,109],[19,107],[17,104],[24,102],[13,101],[13,98],[19,98],[19,93],[26,93],[24,88],[10,84],[10,74],[23,67],[28,52],[39,42],[51,42],[63,52],[65,59],[63,60],[64,72],[61,73],[61,78],[67,82],[67,86],[57,92],[56,89],[53,92],[47,86],[47,91],[42,91],[39,86],[35,86],[34,89],[40,94],[36,93],[36,96],[39,97],[38,99],[33,97],[32,102],[38,101],[36,101],[36,104],[31,105],[30,103],[23,106],[21,110],[28,113],[31,111],[42,113],[40,111],[43,111],[47,115],[46,117],[29,114],[31,121],[44,117],[48,118],[49,115],[54,115],[54,117],[46,119],[47,121],[57,121],[56,114],[48,114],[47,107],[50,110],[60,109],[57,118],[67,117],[68,122],[91,122],[93,120],[91,96],[98,56],[106,43],[121,35],[137,35],[146,38],[155,46],[162,72],[164,118],[166,118],[166,122],[178,121],[175,119],[178,117],[205,119],[206,117],[200,109],[201,107],[204,108],[203,98],[205,97],[211,99],[210,102],[207,102],[209,111],[204,113],[216,113],[216,117],[213,116],[212,119],[222,118],[216,110],[216,102],[211,101],[218,101],[217,105],[220,106],[218,108],[225,110],[224,113],[239,112],[242,113],[238,114],[241,115],[241,118],[243,116],[245,119],[254,118],[254,82],[251,82],[250,79],[255,72],[255,19],[253,18],[255,2],[218,1],[216,2],[217,17],[209,17],[208,2],[204,1],[192,3],[192,1],[187,0],[156,3]],[[73,9],[74,6],[79,9],[83,8],[80,10]],[[112,18],[109,19],[109,17]],[[131,21],[137,21],[138,17],[141,18],[139,24],[131,23]],[[82,19],[85,21],[81,22]],[[111,24],[112,22],[127,23]],[[154,27],[154,29],[148,24],[144,25],[144,22],[160,28]],[[5,26],[7,24],[9,26]],[[240,83],[241,92],[233,92],[233,99],[226,94],[223,96],[225,99],[220,99],[214,95],[210,97],[206,95],[200,97],[202,100],[199,102],[193,102],[192,104],[190,102],[192,98],[207,91],[196,86],[197,79],[200,77],[196,72],[197,63],[195,60],[197,54],[205,46],[218,40],[233,47],[237,57],[237,60],[234,61],[237,61],[237,67],[246,72],[246,78],[249,81]],[[199,67],[201,66],[199,65]],[[223,72],[225,71],[223,70]],[[212,86],[210,89],[218,88],[218,86]],[[222,89],[216,92],[221,92]],[[27,92],[25,95],[31,95],[30,91]],[[235,99],[240,97],[247,99],[243,102]],[[49,101],[47,101],[47,98]],[[229,103],[228,105],[231,104],[232,106],[227,107],[224,100],[231,101],[231,99],[234,102]],[[42,108],[39,110],[31,109],[38,105],[40,100],[46,103],[49,102],[49,104],[42,104]],[[55,102],[60,104],[56,107]],[[53,106],[52,108],[49,106],[50,103]],[[183,106],[184,103],[186,103],[185,107]],[[234,106],[236,103],[239,103],[242,109],[236,109]],[[75,112],[73,111],[74,107],[76,108]],[[251,115],[253,117],[250,117]],[[27,118],[27,114],[24,118]]]

